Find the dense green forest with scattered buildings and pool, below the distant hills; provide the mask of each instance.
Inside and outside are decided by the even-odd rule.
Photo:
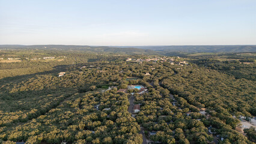
[[[255,143],[254,54],[1,50],[0,143]]]

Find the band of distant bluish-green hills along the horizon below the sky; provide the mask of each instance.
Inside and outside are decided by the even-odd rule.
[[[0,49],[45,49],[45,50],[82,50],[93,53],[120,53],[127,55],[168,55],[168,53],[244,53],[256,52],[256,45],[237,46],[76,46],[76,45],[0,45]]]

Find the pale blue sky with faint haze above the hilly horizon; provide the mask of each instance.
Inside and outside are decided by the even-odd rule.
[[[0,0],[0,44],[256,44],[256,0]]]

